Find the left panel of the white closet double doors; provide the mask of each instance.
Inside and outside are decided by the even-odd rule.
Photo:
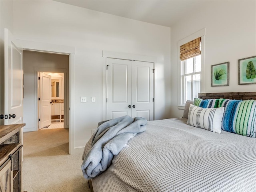
[[[132,116],[132,61],[107,59],[107,119]]]

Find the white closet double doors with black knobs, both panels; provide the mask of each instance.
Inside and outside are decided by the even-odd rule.
[[[153,63],[107,59],[107,119],[129,115],[153,120]]]

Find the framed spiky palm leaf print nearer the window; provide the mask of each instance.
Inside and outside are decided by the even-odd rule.
[[[229,62],[212,65],[212,87],[229,86]]]

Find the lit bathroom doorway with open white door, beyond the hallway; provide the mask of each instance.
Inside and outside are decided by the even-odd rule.
[[[64,73],[38,72],[38,129],[64,128]]]

